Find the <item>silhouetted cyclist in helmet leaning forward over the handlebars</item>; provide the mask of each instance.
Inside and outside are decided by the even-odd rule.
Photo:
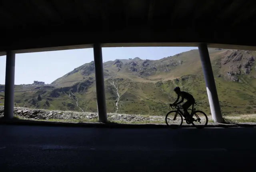
[[[175,87],[174,88],[174,92],[178,95],[178,98],[177,100],[173,103],[173,105],[178,105],[182,102],[184,102],[184,99],[186,99],[187,101],[182,104],[182,108],[183,108],[183,111],[184,111],[184,116],[186,117],[186,120],[189,119],[190,117],[190,114],[188,113],[188,108],[195,103],[195,99],[194,97],[189,94],[188,92],[184,92],[184,91],[180,91],[180,87]],[[180,102],[178,102],[178,100],[180,99],[180,96],[181,96],[181,100]],[[178,102],[178,103],[177,103]],[[172,104],[170,104],[172,105]]]

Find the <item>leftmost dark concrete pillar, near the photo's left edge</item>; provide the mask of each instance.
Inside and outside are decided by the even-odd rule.
[[[14,74],[15,74],[15,53],[6,52],[6,72],[4,91],[4,118],[13,118],[14,106]]]

